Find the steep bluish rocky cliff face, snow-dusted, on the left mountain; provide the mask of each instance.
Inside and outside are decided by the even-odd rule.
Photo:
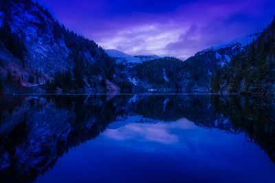
[[[23,1],[10,1],[7,8],[10,8],[10,14],[5,13],[4,19],[12,32],[25,42],[26,64],[49,74],[72,64],[68,62],[70,50],[64,36],[58,32],[60,25],[47,11],[37,4]]]

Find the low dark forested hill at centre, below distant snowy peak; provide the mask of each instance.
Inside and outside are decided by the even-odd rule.
[[[190,66],[177,58],[159,58],[129,69],[129,81],[135,86],[162,92],[186,91]]]

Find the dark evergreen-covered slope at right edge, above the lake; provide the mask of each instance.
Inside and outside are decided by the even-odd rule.
[[[212,92],[270,95],[275,84],[275,17],[248,50],[239,53],[229,66],[212,77]]]

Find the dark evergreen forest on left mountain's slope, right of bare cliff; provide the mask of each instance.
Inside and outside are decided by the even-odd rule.
[[[52,19],[52,16],[50,17]],[[118,82],[113,78],[116,69],[115,60],[110,58],[96,42],[69,31],[58,22],[54,23],[53,30],[56,42],[64,39],[70,51],[66,59],[73,66],[67,71],[56,73],[51,89],[58,87],[65,93],[84,92],[85,87],[104,90],[105,80]],[[99,80],[101,77],[102,80]]]

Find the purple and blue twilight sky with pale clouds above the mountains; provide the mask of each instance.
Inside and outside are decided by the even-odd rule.
[[[188,58],[260,32],[274,0],[38,0],[56,19],[104,49]]]

